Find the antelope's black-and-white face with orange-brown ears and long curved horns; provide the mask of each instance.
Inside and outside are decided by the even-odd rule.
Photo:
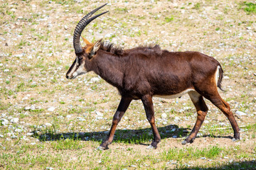
[[[87,62],[90,62],[92,57],[94,57],[97,54],[97,50],[100,48],[100,42],[101,40],[98,40],[95,43],[91,43],[85,38],[82,38],[85,42],[85,47],[82,47],[80,42],[80,37],[82,34],[82,30],[85,29],[85,27],[93,21],[98,16],[103,15],[104,13],[107,13],[108,11],[104,13],[100,13],[96,16],[92,16],[93,13],[98,11],[100,8],[105,6],[107,4],[104,4],[100,6],[99,8],[95,8],[95,10],[91,11],[90,13],[87,13],[86,16],[84,16],[78,23],[78,25],[75,27],[74,36],[73,36],[73,45],[75,49],[75,61],[71,65],[70,69],[68,69],[68,72],[66,74],[67,79],[75,79],[75,77],[78,77],[81,74],[87,73]]]

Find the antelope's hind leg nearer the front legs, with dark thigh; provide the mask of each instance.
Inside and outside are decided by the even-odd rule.
[[[188,92],[188,95],[191,98],[191,101],[193,102],[194,106],[196,107],[197,111],[197,118],[196,118],[196,124],[193,127],[193,130],[191,131],[191,134],[188,135],[186,140],[183,140],[181,142],[183,145],[186,143],[192,143],[193,140],[195,140],[196,135],[201,128],[201,125],[203,124],[203,120],[206,118],[206,114],[208,112],[208,108],[206,106],[206,102],[203,100],[203,96],[198,94],[196,91],[190,91]]]

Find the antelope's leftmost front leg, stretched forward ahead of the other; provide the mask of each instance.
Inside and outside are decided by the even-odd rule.
[[[99,150],[108,149],[107,146],[110,145],[112,143],[113,139],[114,139],[114,132],[117,128],[117,124],[121,120],[125,111],[127,111],[127,108],[129,106],[129,103],[131,103],[131,101],[132,101],[131,98],[122,97],[122,99],[119,103],[119,106],[117,108],[117,111],[116,111],[116,113],[114,113],[114,117],[113,117],[113,120],[112,120],[112,126],[110,128],[110,133],[109,133],[107,139],[104,142],[102,142],[100,147],[98,147],[97,149],[99,149]]]

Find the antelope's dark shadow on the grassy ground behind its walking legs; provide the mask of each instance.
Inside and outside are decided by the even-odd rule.
[[[161,139],[170,137],[186,137],[188,135],[187,128],[178,128],[177,125],[167,125],[165,127],[158,128],[158,130],[161,135]],[[38,130],[33,131],[33,137],[38,138],[41,142],[65,139],[101,142],[102,140],[105,140],[109,131],[55,133],[54,130],[45,130],[45,132],[36,132],[38,132]],[[152,139],[153,133],[151,128],[139,130],[116,130],[113,142],[143,145],[144,142],[149,142]]]

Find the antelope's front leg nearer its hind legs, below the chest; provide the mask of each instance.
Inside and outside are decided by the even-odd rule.
[[[146,118],[147,118],[147,120],[149,120],[149,123],[151,125],[152,131],[154,134],[154,140],[151,142],[151,145],[149,145],[149,147],[147,147],[147,149],[156,149],[157,144],[161,140],[161,137],[159,135],[159,131],[156,128],[152,97],[150,95],[143,96],[142,103],[143,103],[145,111],[146,111]]]

